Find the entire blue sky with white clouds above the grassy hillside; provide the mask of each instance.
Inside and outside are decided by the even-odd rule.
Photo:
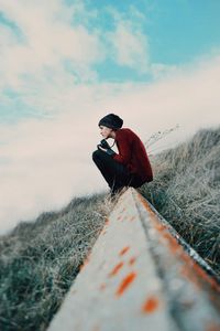
[[[0,234],[107,191],[91,153],[119,115],[148,154],[220,122],[220,1],[0,0]]]

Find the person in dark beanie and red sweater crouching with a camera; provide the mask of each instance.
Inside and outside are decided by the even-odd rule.
[[[141,139],[129,128],[122,128],[123,120],[114,114],[100,119],[98,126],[105,138],[92,153],[92,160],[111,190],[111,196],[124,186],[139,188],[153,180],[152,167]],[[113,138],[119,153],[106,139]]]

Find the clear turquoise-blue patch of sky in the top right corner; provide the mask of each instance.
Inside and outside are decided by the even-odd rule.
[[[112,8],[133,22],[140,20],[139,17],[132,17],[133,9],[143,15],[140,28],[147,36],[152,62],[179,65],[219,47],[219,1],[157,0],[96,3],[98,10],[101,3],[102,11],[111,3]],[[109,15],[105,15],[105,20],[100,19],[98,22],[103,30],[113,29]]]

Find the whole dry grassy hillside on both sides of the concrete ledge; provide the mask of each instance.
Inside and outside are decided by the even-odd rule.
[[[220,273],[220,128],[152,158],[138,189]],[[109,195],[74,199],[0,237],[0,330],[45,330],[113,207]]]

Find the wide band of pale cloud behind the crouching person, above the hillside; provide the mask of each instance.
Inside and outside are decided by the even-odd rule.
[[[177,76],[145,84],[81,86],[58,95],[52,120],[0,125],[0,232],[75,195],[108,189],[91,160],[101,138],[98,120],[112,111],[142,140],[176,124],[180,129],[153,146],[173,147],[196,129],[220,124],[220,57]],[[72,107],[70,107],[72,106]]]

